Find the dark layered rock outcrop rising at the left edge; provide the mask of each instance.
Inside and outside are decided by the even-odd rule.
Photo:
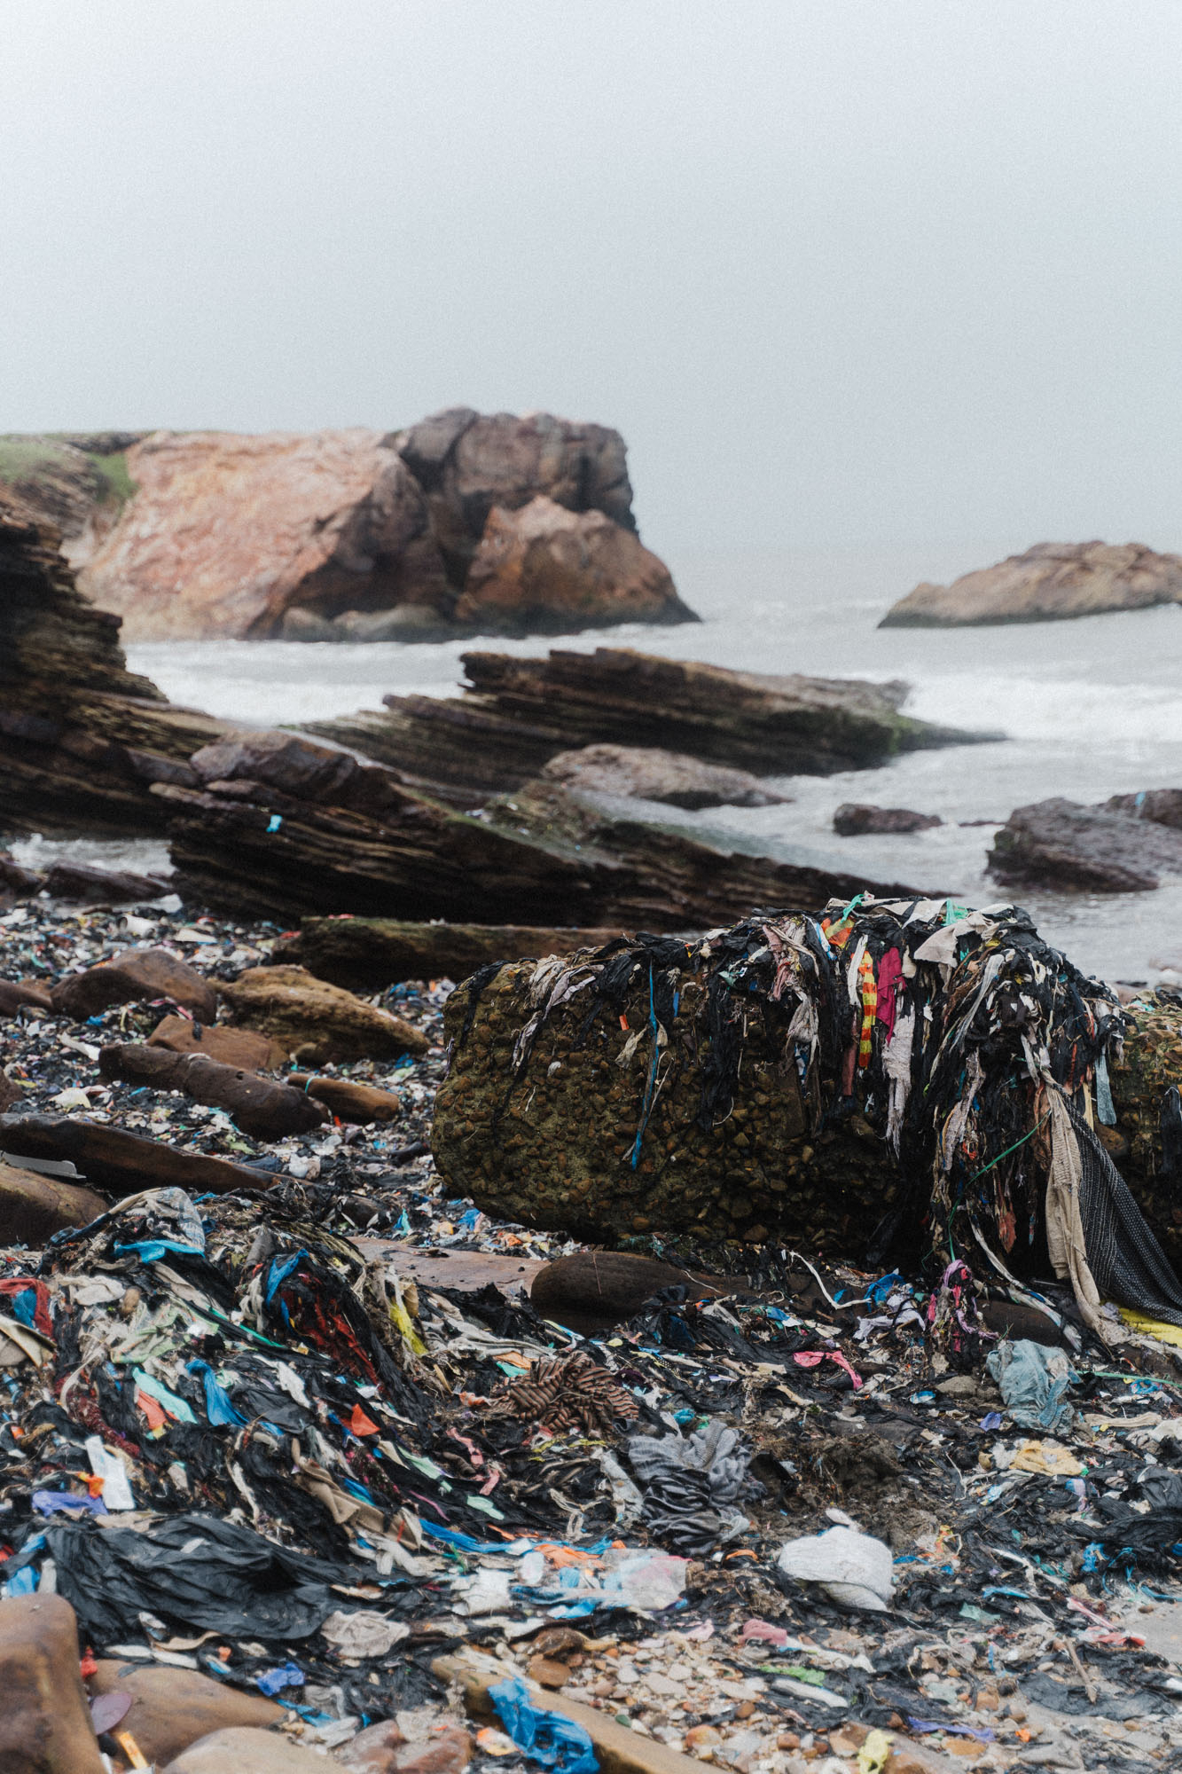
[[[126,669],[119,617],[78,593],[59,532],[0,488],[0,827],[162,830],[156,781],[224,722]]]

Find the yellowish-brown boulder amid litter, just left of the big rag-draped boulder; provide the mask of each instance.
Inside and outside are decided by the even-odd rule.
[[[426,1054],[426,1036],[401,1017],[316,979],[303,967],[252,967],[222,993],[234,1017],[261,1029],[293,1059],[316,1066],[341,1059],[398,1059]]]

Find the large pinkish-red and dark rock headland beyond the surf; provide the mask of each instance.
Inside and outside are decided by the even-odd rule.
[[[387,435],[158,431],[131,445],[126,475],[135,493],[85,552],[82,584],[135,640],[429,640],[690,616],[634,534],[623,438],[602,426],[456,408]],[[515,564],[502,543],[518,507],[532,516]]]

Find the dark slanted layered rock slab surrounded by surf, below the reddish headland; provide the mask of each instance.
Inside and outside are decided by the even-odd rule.
[[[387,695],[382,715],[312,722],[311,731],[469,807],[584,745],[658,747],[756,775],[829,775],[985,736],[902,715],[902,683],[772,678],[630,648],[465,653],[463,667],[461,697]]]

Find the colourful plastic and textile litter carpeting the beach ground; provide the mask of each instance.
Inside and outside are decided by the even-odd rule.
[[[925,1279],[772,1245],[731,1274],[614,1252],[632,1304],[605,1306],[603,1252],[433,1169],[445,983],[371,1004],[414,1056],[319,1073],[399,1119],[268,1142],[99,1075],[176,997],[75,1022],[53,992],[144,942],[232,988],[277,930],[21,910],[0,970],[41,970],[48,1008],[0,1025],[9,1167],[96,1190],[9,1151],[41,1119],[238,1171],[98,1187],[83,1224],[0,1251],[2,1765],[1177,1760],[1171,1323],[1113,1346],[1070,1276],[1008,1297],[983,1254]]]

